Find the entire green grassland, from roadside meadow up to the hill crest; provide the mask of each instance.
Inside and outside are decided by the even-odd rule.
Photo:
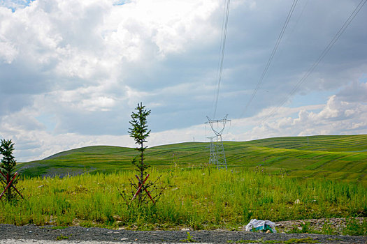
[[[161,175],[166,190],[157,205],[143,208],[124,204],[117,190],[129,188],[134,176],[134,148],[89,146],[21,163],[25,199],[0,201],[0,222],[237,229],[251,218],[367,217],[367,135],[282,137],[224,147],[228,171],[203,168],[206,143],[148,148],[150,174]],[[49,177],[58,174],[64,177]]]

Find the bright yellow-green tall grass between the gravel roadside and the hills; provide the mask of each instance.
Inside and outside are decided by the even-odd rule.
[[[364,185],[300,180],[254,171],[178,169],[152,171],[167,186],[157,205],[127,206],[117,188],[133,173],[29,178],[20,182],[24,200],[0,202],[0,222],[85,227],[169,229],[236,228],[250,218],[367,217]]]

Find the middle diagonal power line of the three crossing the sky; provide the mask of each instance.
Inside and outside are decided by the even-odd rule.
[[[275,52],[277,52],[278,46],[280,44],[280,41],[282,40],[282,37],[283,37],[283,35],[285,33],[285,29],[287,29],[289,20],[291,19],[292,14],[294,12],[294,8],[296,8],[297,2],[298,2],[298,0],[294,0],[293,3],[292,3],[292,7],[289,10],[289,13],[287,15],[287,20],[285,20],[285,24],[283,24],[282,31],[280,31],[280,34],[278,36],[278,40],[275,43],[275,46],[273,48],[273,52],[271,52],[271,56],[268,59],[268,63],[266,63],[266,66],[264,68],[264,71],[261,74],[261,77],[260,77],[259,81],[257,82],[256,88],[254,89],[254,92],[252,92],[252,95],[250,97],[250,100],[247,102],[247,105],[246,105],[245,109],[243,110],[243,113],[240,115],[240,118],[245,114],[245,112],[247,111],[247,108],[250,107],[250,104],[251,104],[252,100],[254,100],[254,96],[256,95],[257,91],[259,90],[259,87],[261,85],[261,82],[263,82],[264,77],[265,77],[266,73],[268,72],[268,68],[271,65],[271,61],[273,61],[273,57],[275,55]]]

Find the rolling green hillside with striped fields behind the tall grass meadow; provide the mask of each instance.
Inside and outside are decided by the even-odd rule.
[[[278,137],[250,142],[224,142],[229,167],[264,167],[272,174],[367,181],[367,135]],[[201,167],[208,161],[208,143],[181,143],[147,149],[153,167]],[[63,175],[83,171],[133,169],[134,148],[88,146],[19,164],[23,174]]]

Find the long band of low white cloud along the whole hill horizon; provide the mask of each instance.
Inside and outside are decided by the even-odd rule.
[[[364,87],[360,83],[355,89]],[[340,93],[344,93],[346,88]],[[366,133],[367,104],[344,100],[343,96],[334,95],[324,105],[303,107],[281,107],[268,121],[264,121],[268,112],[260,112],[247,119],[232,119],[226,124],[224,140],[247,141],[267,137],[306,136],[306,135],[352,135]],[[347,115],[346,115],[347,113]],[[24,121],[29,126],[24,126]],[[149,118],[148,118],[149,119]],[[3,121],[13,121],[3,123]],[[59,151],[91,145],[130,146],[133,139],[128,135],[80,135],[78,133],[46,132],[43,125],[32,119],[32,112],[22,111],[11,118],[4,118],[0,130],[5,138],[12,138],[18,160],[36,160],[46,158]],[[222,125],[215,125],[222,126]],[[219,128],[221,129],[221,128]],[[204,124],[189,128],[152,132],[148,146],[179,142],[208,142],[212,135],[210,127]]]

